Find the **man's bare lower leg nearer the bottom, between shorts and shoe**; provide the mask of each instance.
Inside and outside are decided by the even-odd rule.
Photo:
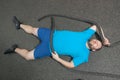
[[[15,52],[26,60],[34,60],[34,50],[28,51],[26,49],[16,48]]]

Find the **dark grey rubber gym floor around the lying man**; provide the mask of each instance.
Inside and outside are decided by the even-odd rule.
[[[0,80],[120,80],[120,45],[91,53],[88,63],[75,68],[80,71],[66,69],[50,57],[26,61],[18,54],[3,54],[15,43],[29,50],[39,43],[36,37],[15,29],[13,16],[34,27],[49,28],[49,18],[37,21],[47,14],[94,20],[102,26],[111,43],[120,40],[120,0],[0,0]],[[70,30],[88,27],[64,18],[59,18],[56,25]],[[97,72],[98,75],[90,72]]]

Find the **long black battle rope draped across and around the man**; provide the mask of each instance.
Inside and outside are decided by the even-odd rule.
[[[53,32],[55,30],[55,20],[54,17],[63,17],[63,18],[68,18],[68,19],[72,19],[72,20],[76,20],[76,21],[81,21],[81,22],[85,22],[88,23],[90,25],[96,25],[99,26],[96,22],[91,21],[91,20],[86,20],[86,19],[78,19],[78,18],[73,18],[73,17],[69,17],[69,16],[64,16],[64,15],[46,15],[43,16],[41,18],[38,19],[38,21],[41,21],[47,17],[51,18],[51,35],[50,35],[50,48],[51,51],[54,52],[54,48],[53,48],[53,44],[52,44],[52,37],[53,37]],[[119,45],[120,41],[114,42],[111,44],[111,47],[114,47],[116,45]],[[95,76],[105,76],[105,77],[111,77],[111,78],[119,78],[120,79],[120,75],[118,74],[111,74],[111,73],[100,73],[100,72],[90,72],[90,71],[82,71],[82,70],[76,70],[76,69],[69,69],[72,72],[77,72],[77,73],[81,73],[81,74],[86,74],[86,75],[95,75]]]

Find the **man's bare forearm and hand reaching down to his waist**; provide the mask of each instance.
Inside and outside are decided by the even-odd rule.
[[[68,62],[68,61],[61,59],[56,52],[52,53],[52,57],[53,57],[53,59],[55,59],[56,61],[61,63],[63,66],[65,66],[67,68],[74,68],[73,61]]]

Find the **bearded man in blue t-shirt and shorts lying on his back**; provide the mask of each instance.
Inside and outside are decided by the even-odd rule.
[[[50,50],[50,32],[48,28],[35,28],[21,23],[15,16],[13,22],[17,30],[23,29],[26,33],[37,36],[40,44],[33,50],[21,49],[17,44],[7,49],[4,54],[17,53],[26,60],[36,60],[52,56],[53,59],[67,68],[74,68],[82,63],[88,62],[90,51],[100,50],[103,46],[109,46],[110,42],[105,37],[103,29],[96,25],[84,31],[55,30],[53,33],[53,47],[55,52]],[[101,32],[103,41],[91,39],[97,32]],[[24,42],[23,42],[24,43]],[[72,57],[70,62],[63,60],[59,55]]]

